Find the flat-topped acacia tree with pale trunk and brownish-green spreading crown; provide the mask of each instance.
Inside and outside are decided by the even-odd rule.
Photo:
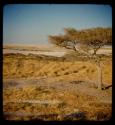
[[[72,49],[85,54],[90,60],[94,60],[98,69],[98,88],[102,89],[102,67],[97,51],[104,45],[112,43],[111,28],[92,28],[76,30],[65,28],[65,35],[49,36],[49,41],[57,46]],[[93,53],[90,52],[93,50]]]

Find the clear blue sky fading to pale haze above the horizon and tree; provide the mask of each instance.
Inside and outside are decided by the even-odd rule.
[[[3,44],[48,44],[63,28],[112,27],[112,8],[96,4],[8,4],[3,8]]]

